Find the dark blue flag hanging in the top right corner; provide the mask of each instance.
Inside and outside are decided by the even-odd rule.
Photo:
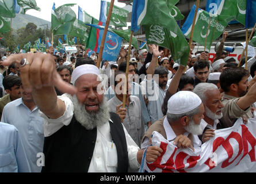
[[[256,23],[256,0],[246,1],[246,28],[253,28]]]

